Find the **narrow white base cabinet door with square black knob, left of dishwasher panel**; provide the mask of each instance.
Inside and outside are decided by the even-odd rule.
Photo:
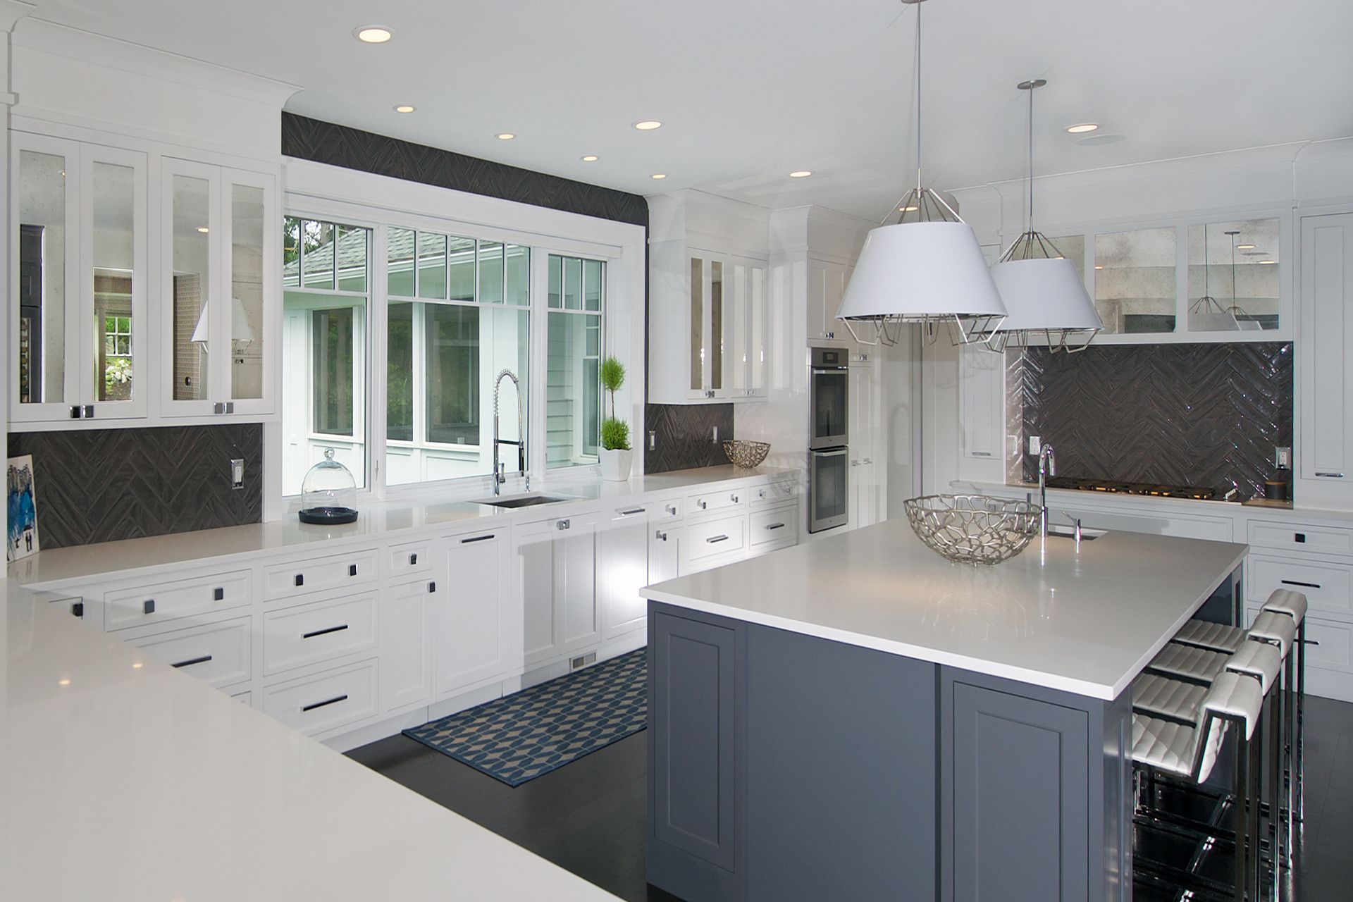
[[[391,586],[380,598],[380,709],[396,711],[432,702],[433,603],[444,583]]]

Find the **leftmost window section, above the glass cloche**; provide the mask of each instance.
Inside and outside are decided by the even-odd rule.
[[[287,218],[283,227],[283,492],[331,448],[365,484],[371,230]]]

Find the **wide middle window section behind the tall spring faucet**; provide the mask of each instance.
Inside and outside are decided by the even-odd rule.
[[[394,227],[387,247],[386,484],[487,476],[495,394],[499,438],[520,438],[499,373],[522,426],[529,412],[530,249]]]

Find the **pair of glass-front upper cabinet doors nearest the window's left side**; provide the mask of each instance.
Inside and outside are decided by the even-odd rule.
[[[161,177],[164,414],[272,414],[276,179],[172,158]]]

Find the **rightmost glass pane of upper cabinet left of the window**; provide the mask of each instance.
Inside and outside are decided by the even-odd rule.
[[[262,398],[264,192],[230,185],[230,396]],[[352,234],[348,235],[352,243]],[[338,243],[342,249],[342,242]],[[363,250],[363,268],[365,268]]]

